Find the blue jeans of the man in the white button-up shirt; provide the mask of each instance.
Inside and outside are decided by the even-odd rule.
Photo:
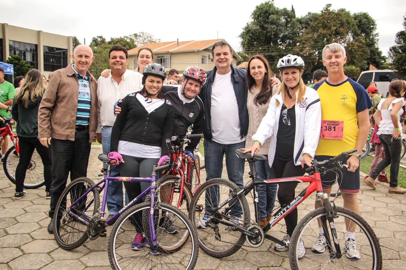
[[[103,153],[107,154],[110,152],[110,137],[111,137],[111,129],[113,127],[104,126],[102,128],[102,147]],[[107,165],[103,164],[103,168],[107,169]],[[110,176],[119,176],[119,170],[117,166],[111,166]],[[127,204],[127,192],[125,193],[125,203]],[[108,209],[109,215],[117,214],[119,210],[121,210],[123,206],[123,182],[121,181],[110,181],[108,183],[108,191],[107,191],[107,198],[106,198],[106,205]]]

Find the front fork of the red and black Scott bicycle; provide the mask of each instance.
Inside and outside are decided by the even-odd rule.
[[[321,198],[323,198],[323,203]],[[342,253],[341,253],[341,248],[340,244],[337,239],[337,231],[335,229],[335,224],[334,224],[334,217],[335,217],[335,210],[333,207],[331,207],[331,202],[328,200],[328,195],[327,193],[322,193],[322,192],[317,192],[317,208],[324,207],[326,209],[326,216],[323,216],[320,218],[320,221],[322,223],[323,231],[324,231],[324,237],[326,238],[326,244],[327,244],[327,249],[328,252],[330,253],[330,259],[334,258],[341,258]],[[333,202],[334,204],[334,202]],[[333,238],[334,242],[334,247],[336,252],[333,251],[333,245],[331,244],[331,238],[330,235],[328,234],[328,227],[330,227],[330,233],[331,233],[331,238]]]

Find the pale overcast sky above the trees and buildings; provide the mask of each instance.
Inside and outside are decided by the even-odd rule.
[[[179,38],[205,40],[225,38],[235,50],[240,50],[242,28],[250,20],[261,0],[242,1],[60,1],[2,0],[1,23],[42,30],[54,34],[77,36],[89,44],[93,36],[126,36],[147,32],[161,41]],[[333,1],[275,0],[279,8],[294,6],[296,16],[317,12]],[[376,20],[379,47],[387,55],[395,44],[396,32],[403,30],[405,0],[365,1],[335,0],[333,9],[345,8],[352,13],[367,12]],[[82,4],[83,3],[83,4]],[[217,34],[218,33],[218,34]],[[218,36],[217,36],[218,35]]]

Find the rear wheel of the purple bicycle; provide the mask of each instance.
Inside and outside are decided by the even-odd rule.
[[[88,226],[71,216],[67,208],[94,185],[91,179],[79,177],[73,180],[59,197],[54,213],[54,236],[61,248],[76,249],[87,240]],[[99,215],[99,206],[99,189],[95,188],[87,193],[71,210],[78,215],[79,219],[89,221],[91,217]]]

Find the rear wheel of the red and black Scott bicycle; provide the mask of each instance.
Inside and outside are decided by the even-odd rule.
[[[212,257],[227,257],[237,252],[245,242],[245,235],[235,229],[235,226],[224,225],[215,221],[212,208],[225,202],[237,185],[229,180],[215,178],[203,183],[194,193],[190,206],[189,217],[194,227],[198,228],[199,247]],[[235,204],[229,212],[225,208]],[[245,227],[250,222],[250,209],[243,194],[237,200],[231,200],[217,212],[216,218],[238,222]]]

